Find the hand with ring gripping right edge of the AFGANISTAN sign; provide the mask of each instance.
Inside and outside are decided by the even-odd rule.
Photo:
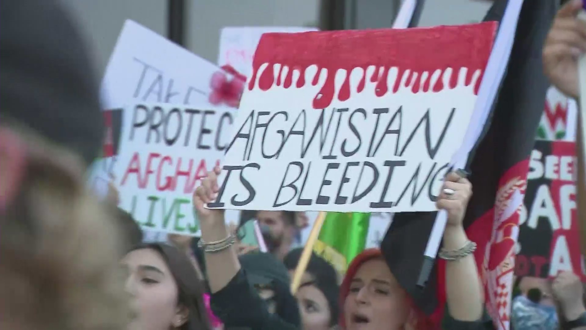
[[[435,201],[439,210],[448,212],[448,226],[462,227],[468,201],[472,197],[472,184],[462,171],[448,173],[441,187],[440,196]]]

